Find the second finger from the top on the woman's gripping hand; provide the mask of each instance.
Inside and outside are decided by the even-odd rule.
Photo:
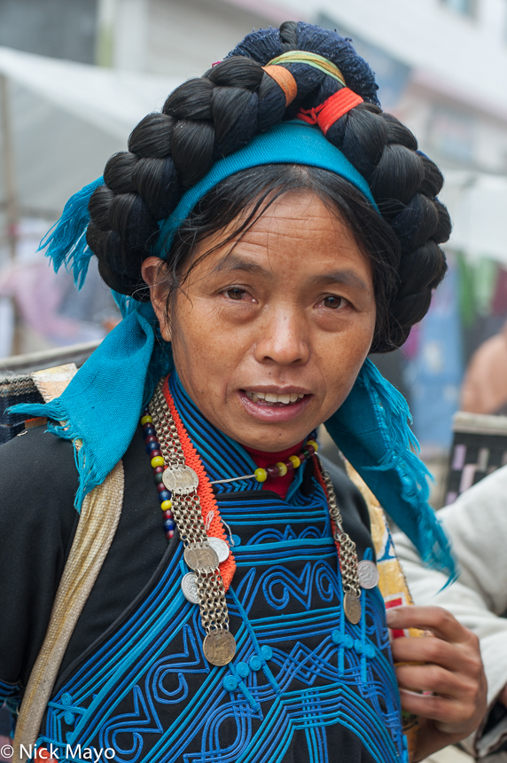
[[[391,644],[394,662],[421,662],[441,665],[448,670],[477,677],[482,671],[479,649],[469,644],[455,644],[432,636],[394,639]]]

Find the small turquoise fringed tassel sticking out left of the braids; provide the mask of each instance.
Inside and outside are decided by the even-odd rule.
[[[68,272],[72,268],[74,284],[78,289],[84,283],[93,256],[86,242],[86,229],[90,223],[88,205],[91,194],[99,185],[104,185],[103,177],[85,185],[81,191],[71,196],[58,223],[46,233],[38,248],[38,251],[47,248],[46,256],[51,259],[55,272],[64,264]]]

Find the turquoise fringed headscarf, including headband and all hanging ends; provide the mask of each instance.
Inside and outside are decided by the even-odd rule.
[[[285,122],[253,138],[248,146],[217,161],[206,177],[183,195],[175,212],[160,224],[155,254],[165,258],[175,231],[200,199],[224,177],[262,164],[294,163],[321,167],[345,177],[376,208],[370,188],[345,156],[324,135],[303,122]],[[58,224],[44,238],[55,270],[65,264],[82,287],[92,253],[86,244],[90,196],[100,177],[67,201]],[[47,405],[16,405],[12,411],[46,416],[50,430],[68,440],[79,438],[80,475],[75,500],[82,499],[109,474],[134,436],[143,406],[160,377],[173,368],[170,345],[160,336],[150,303],[113,292],[123,320],[105,337],[65,392]],[[409,408],[400,393],[366,360],[347,400],[325,422],[331,437],[354,465],[394,522],[417,547],[423,560],[456,575],[448,539],[428,504],[429,472],[415,452]]]

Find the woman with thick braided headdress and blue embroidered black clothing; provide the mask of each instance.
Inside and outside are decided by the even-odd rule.
[[[392,657],[429,664],[397,672],[414,759],[479,722],[472,634],[402,609],[390,625],[436,638],[391,652],[363,499],[316,458],[326,421],[453,574],[406,406],[366,359],[424,316],[449,232],[441,174],[376,88],[336,33],[248,35],[136,127],[51,233],[78,281],[98,257],[125,318],[58,399],[24,408],[53,434],[1,454],[16,742],[35,729],[66,759],[407,759]]]

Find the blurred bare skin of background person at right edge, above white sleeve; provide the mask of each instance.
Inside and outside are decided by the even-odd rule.
[[[507,415],[507,323],[476,350],[464,376],[460,410]]]

